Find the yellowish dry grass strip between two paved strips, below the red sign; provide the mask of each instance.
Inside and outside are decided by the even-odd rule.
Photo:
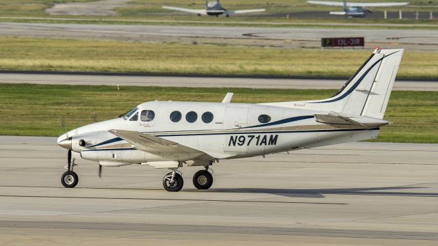
[[[368,50],[0,37],[0,69],[3,70],[350,76],[369,55]],[[398,77],[430,78],[437,74],[437,52],[406,51]]]

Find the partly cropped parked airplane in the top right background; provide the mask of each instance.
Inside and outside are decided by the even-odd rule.
[[[407,5],[409,3],[347,3],[338,1],[307,1],[307,3],[329,5],[329,6],[343,6],[344,11],[341,12],[330,12],[330,14],[346,15],[353,17],[364,17],[368,13],[372,13],[367,10],[367,7],[391,7],[391,6],[401,6]]]

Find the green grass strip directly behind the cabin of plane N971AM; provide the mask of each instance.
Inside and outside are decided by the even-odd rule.
[[[148,100],[272,102],[326,98],[334,90],[0,84],[0,135],[57,136],[117,115]],[[438,143],[438,92],[393,92],[376,141]],[[64,123],[63,123],[64,122]]]

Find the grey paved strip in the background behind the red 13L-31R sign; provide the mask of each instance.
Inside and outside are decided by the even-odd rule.
[[[172,25],[106,25],[62,23],[0,23],[0,36],[130,40],[140,42],[197,42],[320,47],[321,38],[364,37],[365,47],[438,50],[438,29],[341,29],[272,27],[196,27]]]

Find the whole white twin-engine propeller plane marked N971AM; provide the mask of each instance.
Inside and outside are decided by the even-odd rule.
[[[209,166],[220,159],[289,152],[303,148],[373,139],[381,126],[402,59],[402,49],[374,51],[331,98],[260,104],[222,102],[144,102],[113,120],[69,131],[57,139],[68,150],[64,187],[75,187],[75,159],[101,167],[131,164],[170,169],[167,191],[179,191],[179,167],[203,167],[193,177],[209,189]],[[269,168],[268,166],[266,168]]]

